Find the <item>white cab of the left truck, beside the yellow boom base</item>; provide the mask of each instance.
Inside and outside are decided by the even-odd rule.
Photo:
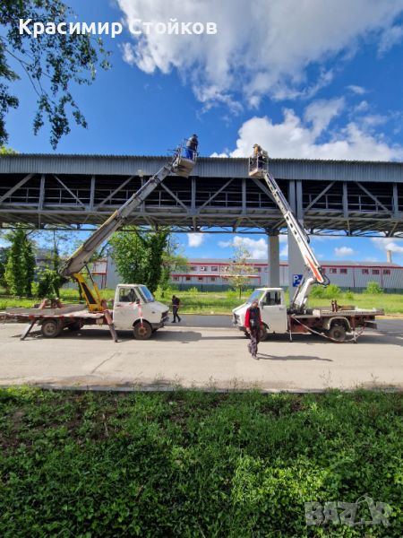
[[[168,320],[169,308],[155,300],[143,284],[118,284],[113,320],[117,330],[133,330],[134,338],[147,340]]]

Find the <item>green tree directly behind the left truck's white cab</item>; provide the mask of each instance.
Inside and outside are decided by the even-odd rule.
[[[109,240],[117,272],[126,283],[145,284],[157,290],[162,273],[162,260],[169,238],[168,228],[141,232],[135,226],[117,231]]]

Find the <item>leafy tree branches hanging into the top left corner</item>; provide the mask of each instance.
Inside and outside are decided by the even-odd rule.
[[[10,84],[27,76],[37,94],[34,133],[44,125],[50,126],[50,143],[56,148],[64,134],[70,132],[70,114],[75,123],[86,127],[87,122],[73,99],[71,86],[90,84],[96,76],[97,65],[107,69],[109,53],[101,39],[90,33],[66,35],[41,33],[38,37],[22,32],[19,20],[32,23],[53,22],[56,25],[74,20],[75,14],[61,0],[2,0],[0,3],[0,144],[8,139],[5,117],[10,108],[18,108],[18,98],[10,93]],[[32,26],[30,26],[32,30]],[[13,62],[13,66],[10,65]],[[16,67],[14,67],[16,65]]]

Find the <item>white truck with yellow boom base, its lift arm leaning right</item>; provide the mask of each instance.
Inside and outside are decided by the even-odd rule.
[[[96,249],[119,228],[124,225],[133,211],[142,204],[147,196],[164,181],[172,172],[187,178],[192,172],[197,160],[197,152],[193,152],[192,159],[184,152],[184,143],[179,145],[174,155],[159,171],[135,192],[122,207],[116,210],[99,229],[95,230],[86,239],[81,247],[61,268],[60,274],[64,278],[73,278],[78,282],[82,296],[86,301],[84,305],[68,305],[62,307],[59,301],[45,300],[39,308],[7,308],[6,317],[28,320],[30,324],[21,336],[24,339],[36,323],[41,325],[43,336],[52,338],[62,332],[64,327],[71,330],[80,330],[82,325],[108,325],[112,337],[117,341],[116,329],[133,329],[135,338],[147,339],[150,334],[164,326],[167,321],[168,308],[155,301],[146,286],[141,284],[118,284],[114,309],[110,312],[107,303],[101,298],[97,283],[92,278],[89,269],[90,258]],[[81,273],[86,269],[90,277],[90,284]],[[50,306],[50,308],[48,308]]]

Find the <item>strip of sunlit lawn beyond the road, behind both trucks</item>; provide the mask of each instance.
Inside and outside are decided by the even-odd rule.
[[[168,305],[172,293],[173,291],[168,291],[165,297],[162,297],[159,292],[155,295],[156,299]],[[184,314],[230,314],[232,308],[236,308],[250,295],[250,291],[246,291],[242,294],[242,298],[239,299],[239,295],[234,291],[174,291],[174,293],[182,301],[181,312]],[[105,299],[113,299],[115,291],[102,290],[101,294]],[[64,302],[78,301],[78,292],[75,290],[62,290],[61,299]],[[356,305],[359,308],[383,308],[386,314],[403,314],[403,295],[401,294],[381,293],[370,295],[347,292],[341,293],[335,299],[338,300],[339,305]],[[2,297],[2,290],[0,290],[0,310],[16,306],[31,307],[38,300],[5,298]],[[309,306],[330,306],[330,299],[311,298]]]

